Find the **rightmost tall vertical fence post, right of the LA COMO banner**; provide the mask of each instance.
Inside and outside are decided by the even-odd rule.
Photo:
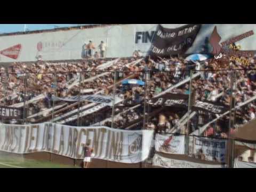
[[[232,151],[232,145],[231,145],[231,124],[232,124],[232,117],[233,117],[233,72],[230,73],[230,110],[229,110],[229,124],[228,124],[228,146],[227,146],[227,166],[228,168],[232,167],[232,159],[231,159],[231,151]]]

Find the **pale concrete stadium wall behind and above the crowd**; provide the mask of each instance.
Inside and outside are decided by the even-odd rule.
[[[185,24],[162,25],[167,28],[177,28]],[[107,57],[109,58],[130,57],[134,50],[141,50],[144,53],[148,51],[150,38],[145,37],[150,36],[152,38],[156,26],[157,24],[130,24],[0,36],[0,51],[21,44],[21,52],[17,59],[11,59],[0,54],[0,62],[35,61],[39,54],[42,55],[43,60],[81,59],[82,46],[84,42],[88,43],[90,40],[96,46],[100,44],[100,41],[105,41],[108,45]],[[193,47],[188,50],[188,53],[200,50],[200,46],[204,44],[205,38],[211,35],[214,26],[217,26],[222,41],[246,33],[249,30],[256,31],[256,25],[254,24],[203,24]],[[138,36],[140,38],[136,38]],[[238,43],[243,50],[256,50],[254,36],[243,39]]]

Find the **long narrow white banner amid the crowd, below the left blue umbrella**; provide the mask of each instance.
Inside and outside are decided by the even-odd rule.
[[[77,101],[79,101],[79,96],[59,98],[59,97],[55,97],[53,95],[52,100],[53,101],[77,102]],[[107,106],[111,107],[111,106],[113,106],[114,97],[106,96],[106,95],[81,95],[80,100],[81,101],[90,101],[90,102],[95,102],[95,103],[105,103]],[[121,101],[122,101],[122,99],[115,97],[115,105]]]

